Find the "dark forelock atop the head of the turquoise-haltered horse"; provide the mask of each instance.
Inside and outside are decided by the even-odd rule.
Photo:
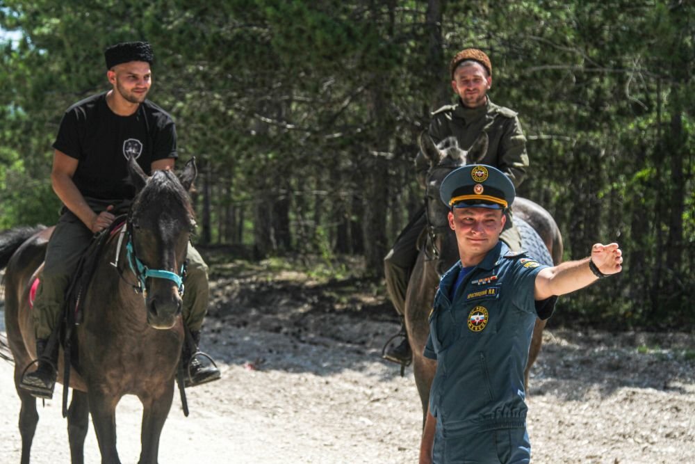
[[[195,218],[188,191],[172,170],[156,170],[147,179],[145,187],[136,195],[133,211],[147,208],[155,203],[161,211],[171,211],[177,205],[183,207],[188,217]]]

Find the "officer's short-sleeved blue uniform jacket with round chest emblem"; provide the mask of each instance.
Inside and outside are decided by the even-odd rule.
[[[534,282],[545,266],[499,242],[450,300],[461,262],[441,278],[425,356],[437,361],[430,412],[438,434],[524,427],[523,373],[534,322]]]

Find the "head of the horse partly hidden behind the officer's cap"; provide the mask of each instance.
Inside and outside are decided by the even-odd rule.
[[[486,154],[488,136],[482,132],[468,150],[459,147],[455,137],[448,137],[435,145],[432,138],[423,132],[418,139],[420,150],[430,163],[425,177],[425,214],[427,215],[427,234],[430,244],[428,250],[437,259],[436,271],[439,275],[449,269],[458,259],[456,237],[449,227],[449,209],[439,197],[439,187],[452,170],[469,163],[479,162]]]

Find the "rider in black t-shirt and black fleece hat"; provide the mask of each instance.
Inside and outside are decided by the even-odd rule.
[[[126,182],[129,157],[147,173],[174,168],[178,156],[174,121],[146,99],[152,85],[152,48],[147,42],[126,42],[109,47],[105,56],[113,88],[70,106],[53,145],[51,182],[65,206],[49,241],[33,317],[37,356],[54,364],[57,347],[45,351],[79,258],[93,234],[111,225],[115,214],[126,212],[135,195]],[[190,243],[186,263],[182,317],[197,345],[207,311],[208,268]],[[183,359],[190,362],[191,372],[187,386],[220,378],[214,365],[191,359],[192,349],[184,344]],[[40,360],[20,385],[35,396],[50,398],[55,382],[50,362]]]

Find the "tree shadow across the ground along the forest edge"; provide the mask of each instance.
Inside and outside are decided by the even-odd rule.
[[[382,282],[360,278],[357,260],[332,264],[335,273],[322,263],[220,256],[209,261],[206,330],[213,343],[232,346],[220,351],[228,353],[229,362],[329,375],[380,359],[382,345],[398,331],[399,319]],[[229,328],[236,329],[235,337],[227,336]],[[245,333],[254,335],[244,339]],[[693,339],[688,334],[550,328],[532,372],[530,394],[554,392],[581,401],[596,389],[604,394],[621,387],[684,392],[680,385],[695,381]],[[389,376],[399,375],[397,365],[382,362],[393,367]],[[559,383],[567,382],[575,388],[561,392]]]

